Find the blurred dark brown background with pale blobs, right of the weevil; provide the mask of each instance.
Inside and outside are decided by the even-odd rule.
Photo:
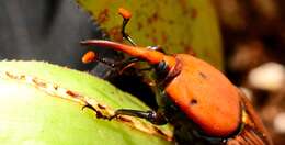
[[[228,77],[251,96],[274,143],[285,144],[285,1],[213,3],[220,20]]]

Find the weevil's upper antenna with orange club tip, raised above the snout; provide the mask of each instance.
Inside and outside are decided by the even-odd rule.
[[[124,9],[124,8],[119,8],[118,9],[118,14],[122,15],[123,19],[124,19],[123,20],[123,24],[122,24],[122,31],[121,31],[123,37],[125,40],[127,40],[133,46],[137,46],[137,44],[132,40],[132,37],[125,31],[126,30],[126,25],[127,25],[129,19],[132,18],[132,13],[128,10]]]

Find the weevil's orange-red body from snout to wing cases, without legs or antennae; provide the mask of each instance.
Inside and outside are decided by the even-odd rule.
[[[146,47],[109,41],[91,40],[82,44],[122,51],[151,65],[163,62],[167,66],[167,76],[164,80],[162,79],[163,92],[186,115],[186,121],[181,123],[187,126],[186,132],[195,135],[189,131],[193,126],[189,124],[193,122],[205,135],[204,138],[209,138],[206,143],[217,140],[218,143],[226,144],[272,144],[266,130],[244,94],[219,70],[204,60],[187,54],[169,56]],[[173,124],[176,124],[175,121]]]

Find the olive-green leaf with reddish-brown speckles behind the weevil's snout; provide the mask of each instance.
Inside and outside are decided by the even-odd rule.
[[[223,68],[221,41],[210,0],[77,0],[112,41],[122,42],[118,8],[133,13],[126,27],[139,46],[160,45]]]

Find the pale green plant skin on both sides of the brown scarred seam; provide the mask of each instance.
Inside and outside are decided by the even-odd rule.
[[[136,98],[102,79],[38,62],[1,62],[0,71],[34,76],[112,108],[147,110]],[[93,111],[52,97],[35,87],[0,78],[0,143],[36,145],[167,145],[156,135],[116,121],[96,119]],[[164,126],[170,129],[169,126]]]

